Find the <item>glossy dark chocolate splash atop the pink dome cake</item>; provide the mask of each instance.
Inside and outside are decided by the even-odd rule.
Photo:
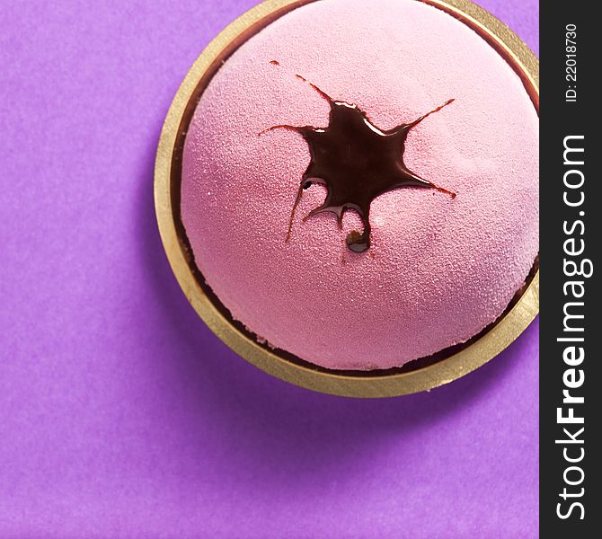
[[[276,60],[272,60],[270,64],[279,66]],[[354,252],[364,252],[370,247],[370,206],[378,195],[402,187],[413,187],[438,190],[456,198],[453,191],[421,178],[403,163],[405,141],[410,130],[430,114],[454,102],[453,99],[411,123],[383,130],[377,128],[357,105],[335,101],[303,76],[297,75],[297,78],[309,84],[329,102],[331,112],[326,128],[279,125],[261,132],[263,135],[274,129],[297,131],[305,138],[311,153],[311,162],[299,184],[291,212],[287,242],[303,190],[312,183],[324,185],[328,194],[323,205],[305,216],[304,222],[311,216],[331,212],[337,216],[339,227],[342,228],[345,211],[355,210],[362,220],[364,230],[354,230],[347,236],[347,245]]]

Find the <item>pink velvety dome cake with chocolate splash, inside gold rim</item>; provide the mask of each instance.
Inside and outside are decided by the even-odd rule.
[[[504,313],[538,252],[538,172],[536,108],[465,23],[416,0],[320,0],[208,83],[181,222],[258,341],[387,369]]]

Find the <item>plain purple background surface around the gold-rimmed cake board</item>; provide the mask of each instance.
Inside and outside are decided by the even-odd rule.
[[[537,323],[454,384],[355,401],[264,375],[181,294],[157,139],[252,4],[0,5],[0,537],[536,537]],[[537,49],[536,1],[481,4]]]

